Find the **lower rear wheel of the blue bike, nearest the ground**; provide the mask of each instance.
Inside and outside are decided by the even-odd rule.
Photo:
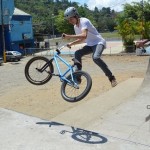
[[[89,93],[92,87],[92,79],[90,75],[84,71],[74,72],[74,81],[72,81],[71,75],[69,75],[67,79],[71,81],[72,85],[64,81],[61,86],[61,95],[68,102],[80,101]],[[74,83],[77,84],[77,87],[73,86]]]

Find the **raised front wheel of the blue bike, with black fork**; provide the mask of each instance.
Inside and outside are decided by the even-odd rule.
[[[37,70],[41,69],[46,63],[47,67],[43,72]],[[30,59],[25,66],[25,77],[34,85],[43,85],[52,78],[54,72],[53,64],[46,57],[36,56]]]

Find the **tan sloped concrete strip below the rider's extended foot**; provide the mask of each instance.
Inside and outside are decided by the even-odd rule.
[[[135,95],[143,79],[131,78],[118,84],[108,92],[82,103],[57,117],[52,121],[87,129],[95,120],[103,120],[103,116]]]

